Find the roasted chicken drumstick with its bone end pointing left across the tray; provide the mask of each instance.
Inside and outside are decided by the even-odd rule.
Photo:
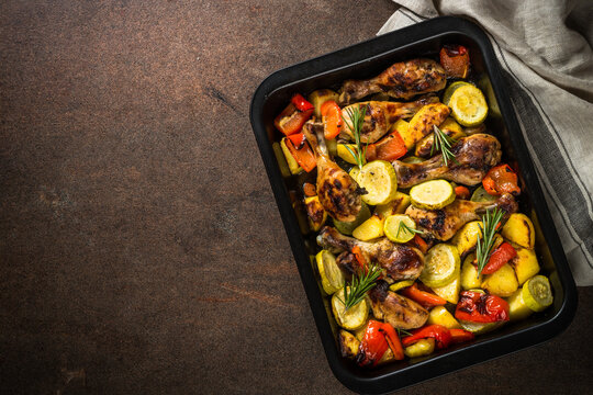
[[[385,237],[374,242],[366,242],[324,226],[317,236],[317,244],[332,252],[351,251],[358,246],[362,253],[379,263],[393,281],[415,280],[424,269],[424,255],[418,249],[391,242]]]

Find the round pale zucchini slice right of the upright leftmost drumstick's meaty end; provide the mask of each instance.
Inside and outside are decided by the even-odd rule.
[[[367,204],[385,204],[392,201],[398,192],[395,169],[385,160],[373,160],[365,165],[356,181],[367,191],[362,195],[362,201]]]

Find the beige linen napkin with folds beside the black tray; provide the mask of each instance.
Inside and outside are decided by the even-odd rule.
[[[593,285],[593,2],[394,2],[378,34],[439,15],[488,32],[577,285]]]

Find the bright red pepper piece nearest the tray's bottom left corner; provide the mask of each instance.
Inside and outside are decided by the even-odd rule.
[[[404,359],[402,342],[395,329],[388,323],[370,319],[360,342],[356,361],[360,366],[374,366],[388,348],[391,348],[391,351],[393,351],[394,359]]]

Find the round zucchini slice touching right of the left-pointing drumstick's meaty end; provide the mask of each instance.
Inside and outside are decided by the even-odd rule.
[[[455,246],[437,244],[426,252],[419,280],[433,289],[447,285],[457,278],[460,266],[461,259]]]

